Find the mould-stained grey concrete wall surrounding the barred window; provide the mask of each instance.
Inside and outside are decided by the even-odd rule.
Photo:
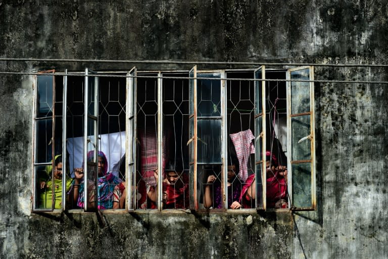
[[[387,17],[386,1],[0,0],[0,56],[387,64]],[[0,71],[85,66],[133,64],[0,62]],[[388,81],[388,71],[316,67],[315,79]],[[315,98],[316,211],[38,215],[31,78],[0,76],[0,257],[387,257],[386,84],[316,83]]]

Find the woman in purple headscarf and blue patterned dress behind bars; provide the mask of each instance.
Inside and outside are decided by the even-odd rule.
[[[94,156],[94,151],[87,153],[87,160],[91,161]],[[119,208],[120,197],[124,192],[124,185],[122,181],[108,173],[108,160],[105,154],[98,152],[98,209]],[[83,168],[75,168],[74,179],[74,202],[78,207],[84,207],[84,184],[83,184]],[[91,185],[93,188],[93,185]],[[95,193],[90,190],[90,193]],[[90,197],[90,200],[93,200]],[[92,204],[91,204],[92,205]]]

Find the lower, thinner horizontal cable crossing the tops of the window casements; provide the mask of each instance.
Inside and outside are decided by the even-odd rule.
[[[38,72],[1,72],[5,75],[40,75],[40,76],[86,76],[85,74],[65,74],[65,73],[38,73]],[[114,74],[88,74],[89,77],[132,77],[132,78],[154,78],[154,79],[198,79],[198,80],[225,80],[225,81],[286,81],[286,82],[321,82],[321,83],[382,83],[388,81],[346,81],[346,80],[304,80],[304,79],[262,79],[262,78],[214,78],[214,77],[174,77],[174,76],[144,76],[144,75],[114,75]]]

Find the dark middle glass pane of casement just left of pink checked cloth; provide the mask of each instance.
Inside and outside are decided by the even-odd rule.
[[[201,119],[198,127],[198,163],[221,163],[221,120]]]

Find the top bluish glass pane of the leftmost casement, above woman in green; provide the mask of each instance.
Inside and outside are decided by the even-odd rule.
[[[53,75],[38,75],[37,117],[53,115]]]

